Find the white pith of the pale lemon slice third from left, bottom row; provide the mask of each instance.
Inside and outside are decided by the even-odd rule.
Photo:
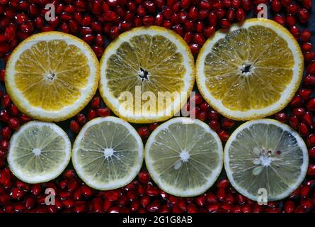
[[[207,183],[201,185],[200,187],[196,187],[195,189],[187,190],[185,193],[182,192],[180,189],[174,187],[174,185],[166,184],[162,182],[161,179],[159,178],[158,173],[152,167],[152,162],[151,162],[151,159],[149,158],[150,148],[151,148],[151,145],[155,142],[156,135],[158,135],[160,131],[171,126],[171,124],[173,123],[183,123],[183,124],[194,123],[201,126],[202,128],[205,129],[207,133],[210,133],[214,137],[214,140],[217,143],[217,147],[218,147],[217,153],[219,154],[219,162],[217,163],[217,167],[212,171],[212,175],[209,176]],[[217,133],[215,133],[209,126],[207,126],[206,123],[195,118],[193,119],[193,118],[176,117],[176,118],[171,118],[171,120],[168,120],[165,123],[162,123],[159,127],[157,127],[151,133],[144,148],[144,159],[147,165],[147,170],[149,171],[152,179],[154,179],[154,182],[162,190],[164,190],[164,192],[168,192],[169,194],[173,194],[176,196],[183,196],[183,197],[197,196],[207,191],[207,189],[209,189],[212,186],[212,184],[214,184],[214,182],[217,180],[217,177],[219,177],[219,174],[223,167],[223,148],[222,148],[221,140],[219,139],[219,136],[217,135]],[[185,162],[185,161],[189,161],[189,157],[187,154],[185,154],[185,150],[183,150],[181,153],[180,162],[177,162],[174,165],[175,170],[180,167],[180,165],[182,164],[181,162]]]

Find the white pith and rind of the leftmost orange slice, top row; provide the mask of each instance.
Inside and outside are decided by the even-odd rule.
[[[17,60],[19,59],[20,55],[25,51],[32,47],[32,45],[35,45],[39,41],[49,41],[49,40],[64,40],[69,45],[75,45],[77,48],[79,48],[86,57],[88,58],[88,66],[90,68],[90,75],[88,77],[88,82],[86,84],[86,87],[81,88],[81,96],[79,99],[77,99],[73,104],[70,106],[64,106],[62,109],[59,109],[57,111],[46,111],[45,109],[42,109],[40,107],[32,106],[24,97],[23,94],[18,91],[18,89],[14,89],[16,87],[16,84],[14,82],[14,75],[16,74],[15,65]],[[76,114],[76,112],[79,112],[81,109],[84,108],[87,99],[91,99],[93,94],[96,92],[96,87],[98,84],[98,60],[96,55],[94,54],[93,50],[84,43],[79,38],[76,38],[74,35],[68,35],[65,33],[60,32],[52,32],[49,34],[47,33],[39,33],[36,35],[30,36],[30,38],[27,38],[26,40],[23,40],[23,42],[18,45],[18,47],[13,51],[11,54],[10,59],[8,60],[8,64],[6,65],[6,87],[11,87],[14,92],[14,96],[12,96],[13,99],[18,99],[18,103],[22,107],[23,111],[26,111],[30,116],[33,116],[34,118],[46,118],[47,121],[59,121],[58,118],[64,119],[65,116],[69,116],[69,114],[72,116]],[[43,77],[46,77],[48,79],[51,75],[48,73],[46,75],[43,75]],[[15,97],[16,96],[16,97]],[[64,99],[67,99],[67,97],[64,97]],[[16,100],[13,100],[16,101]],[[74,114],[73,114],[74,113]],[[69,117],[71,117],[69,116]],[[68,117],[68,118],[69,118]],[[45,120],[45,121],[46,121]]]

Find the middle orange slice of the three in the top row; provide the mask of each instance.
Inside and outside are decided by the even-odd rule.
[[[165,121],[193,89],[193,55],[181,36],[158,26],[119,35],[101,59],[100,92],[113,112],[134,123]]]

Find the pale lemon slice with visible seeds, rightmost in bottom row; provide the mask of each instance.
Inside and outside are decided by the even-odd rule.
[[[233,187],[252,200],[284,199],[302,183],[309,162],[303,139],[270,119],[248,121],[232,133],[224,148],[224,167]]]

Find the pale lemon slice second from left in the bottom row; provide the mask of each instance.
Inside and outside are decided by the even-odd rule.
[[[143,144],[137,131],[113,116],[95,118],[81,129],[72,150],[72,163],[90,187],[124,187],[137,176],[143,162]]]

